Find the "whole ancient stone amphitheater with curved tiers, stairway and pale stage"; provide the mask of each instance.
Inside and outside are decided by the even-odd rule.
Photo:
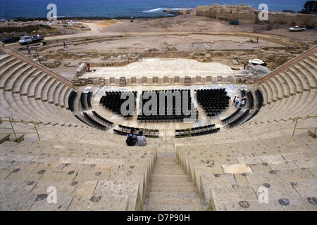
[[[71,63],[76,45],[67,43]],[[58,49],[63,42],[49,43],[41,58],[70,54]],[[316,46],[249,78],[207,55],[197,65],[170,51],[97,54],[80,56],[73,79],[1,46],[1,133],[16,133],[1,134],[1,210],[317,210]],[[106,91],[168,89],[191,91],[197,120],[139,120],[101,102]],[[225,90],[229,103],[204,108],[197,96],[210,89]],[[126,145],[131,127],[144,130],[147,146]]]

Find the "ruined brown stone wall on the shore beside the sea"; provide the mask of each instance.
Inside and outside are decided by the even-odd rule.
[[[268,8],[270,9],[270,8]],[[242,23],[270,23],[279,25],[310,25],[317,27],[317,15],[305,15],[300,13],[269,12],[268,21],[259,21],[259,10],[252,6],[242,5],[218,5],[197,6],[190,11],[190,15],[206,16],[219,20],[240,20]],[[182,13],[187,13],[183,11]]]

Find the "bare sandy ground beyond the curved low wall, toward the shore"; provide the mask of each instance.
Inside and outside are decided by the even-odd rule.
[[[280,36],[295,41],[317,41],[317,30],[306,30],[305,32],[289,32],[289,27],[280,26],[278,29],[265,30],[266,25],[244,24],[229,25],[227,21],[215,20],[191,15],[178,15],[170,18],[151,18],[134,20],[90,20],[82,21],[91,28],[89,31],[81,31],[77,34],[68,34],[51,39],[68,39],[72,37],[91,37],[107,35],[127,34],[184,34],[188,32],[247,32],[255,34],[268,34]]]

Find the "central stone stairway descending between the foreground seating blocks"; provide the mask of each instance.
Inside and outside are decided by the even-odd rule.
[[[157,158],[143,211],[204,211],[194,183],[175,157]]]

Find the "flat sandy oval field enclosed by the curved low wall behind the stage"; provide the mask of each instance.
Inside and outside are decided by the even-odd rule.
[[[271,41],[259,41],[259,44],[248,43],[249,37],[218,34],[134,34],[129,37],[89,44],[69,45],[66,51],[74,52],[145,52],[151,49],[163,52],[164,47],[175,48],[173,51],[211,51],[211,50],[246,50],[263,46],[282,46]],[[60,47],[49,50],[58,50]]]

